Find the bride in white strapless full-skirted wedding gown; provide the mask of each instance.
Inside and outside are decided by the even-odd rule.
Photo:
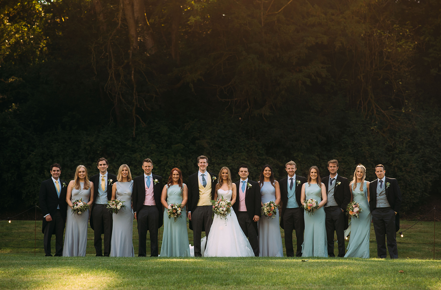
[[[236,185],[231,181],[231,173],[228,167],[222,167],[219,172],[221,180],[216,185],[214,199],[225,198],[236,201]],[[233,209],[222,219],[215,215],[213,224],[207,237],[207,245],[204,256],[206,257],[254,257],[253,249],[237,221]]]

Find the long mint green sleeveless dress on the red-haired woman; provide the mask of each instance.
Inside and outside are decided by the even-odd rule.
[[[167,188],[167,204],[182,203],[182,189],[179,185]],[[185,207],[182,209],[182,218],[175,222],[174,218],[168,218],[167,209],[164,210],[164,234],[162,235],[161,257],[189,257],[190,246],[188,244],[187,218]]]

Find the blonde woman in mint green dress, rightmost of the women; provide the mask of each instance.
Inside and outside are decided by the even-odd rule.
[[[370,237],[370,193],[369,181],[365,181],[366,167],[357,165],[354,172],[354,179],[349,188],[351,190],[351,202],[360,204],[363,210],[359,218],[351,219],[351,236],[349,237],[348,252],[345,257],[369,258],[369,237]]]

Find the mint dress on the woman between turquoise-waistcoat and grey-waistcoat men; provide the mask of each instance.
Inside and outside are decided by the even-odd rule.
[[[305,196],[305,200],[313,198],[320,203],[321,188],[318,184],[308,185],[305,183]],[[311,216],[305,211],[303,217],[305,218],[305,237],[302,245],[302,257],[327,257],[325,209],[320,207]]]

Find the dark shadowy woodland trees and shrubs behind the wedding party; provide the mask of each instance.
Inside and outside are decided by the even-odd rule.
[[[277,178],[336,158],[395,177],[403,211],[440,193],[439,0],[0,0],[1,208],[49,166],[142,173],[196,157]]]

